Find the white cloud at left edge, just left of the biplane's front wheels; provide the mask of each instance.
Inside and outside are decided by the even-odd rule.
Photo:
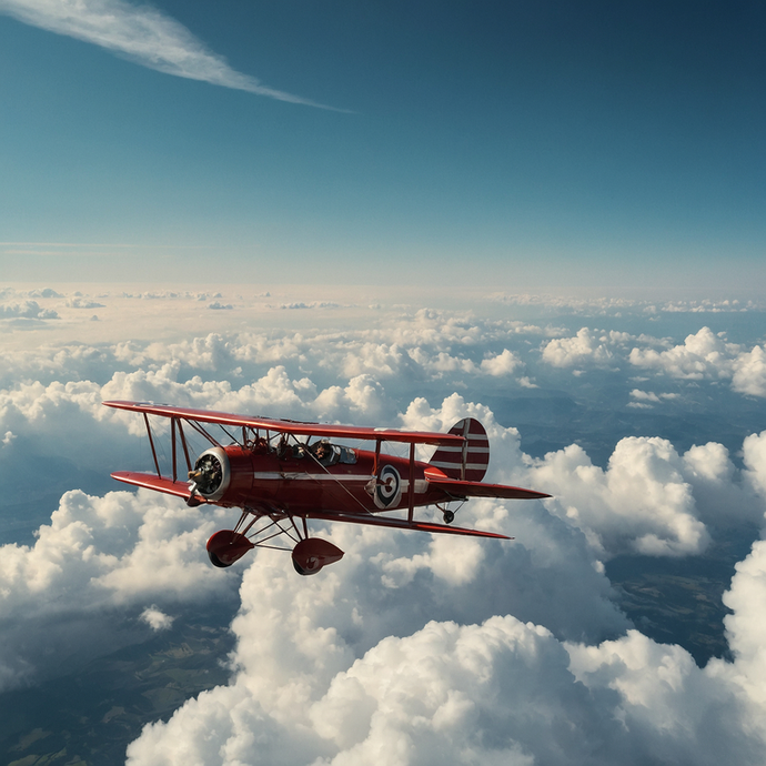
[[[214,513],[148,491],[65,493],[33,545],[0,547],[2,691],[65,662],[72,645],[97,641],[92,621],[109,611],[231,593],[235,579],[204,553],[215,525]],[[162,626],[157,608],[143,614],[154,629]]]

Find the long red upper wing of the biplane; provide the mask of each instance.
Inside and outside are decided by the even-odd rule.
[[[129,410],[148,415],[162,417],[180,417],[200,423],[220,423],[221,425],[245,426],[263,429],[278,433],[301,434],[304,436],[327,436],[360,439],[365,441],[404,442],[406,444],[462,444],[463,436],[455,434],[435,433],[432,431],[396,431],[395,429],[369,429],[356,425],[331,425],[327,423],[303,423],[301,421],[282,421],[269,417],[252,417],[250,415],[233,415],[211,410],[192,410],[190,407],[173,407],[167,404],[151,402],[102,402],[108,407]]]

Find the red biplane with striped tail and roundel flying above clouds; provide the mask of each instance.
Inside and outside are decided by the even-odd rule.
[[[343,552],[311,537],[310,518],[511,540],[495,532],[450,526],[454,512],[447,504],[462,504],[468,497],[550,497],[482,483],[490,442],[484,426],[472,417],[443,434],[269,420],[149,402],[103,404],[143,415],[157,472],[120,471],[112,474],[114,478],[177,495],[191,506],[241,508],[233,530],[216,532],[208,541],[208,555],[215,566],[231,566],[256,546],[279,547],[270,542],[284,535],[294,543],[295,571],[315,574],[339,561]],[[160,470],[150,415],[170,419],[170,475],[163,476]],[[223,436],[215,439],[211,426],[218,426]],[[202,436],[210,445],[193,464],[191,435]],[[374,442],[375,448],[342,446],[332,441],[336,437]],[[410,456],[385,454],[381,451],[384,442],[407,444]],[[427,463],[415,460],[417,444],[436,446]],[[179,478],[181,454],[188,481]],[[435,505],[444,524],[416,521],[414,510],[424,505]],[[391,511],[406,511],[406,517],[385,514]]]

